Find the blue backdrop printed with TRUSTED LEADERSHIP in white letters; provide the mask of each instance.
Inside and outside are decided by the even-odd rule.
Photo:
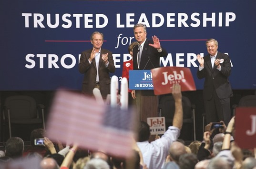
[[[230,56],[233,89],[256,89],[256,0],[0,1],[0,90],[80,90],[79,55],[92,47],[93,31],[104,34],[102,48],[113,52],[121,80],[133,25],[146,24],[169,53],[161,66],[189,67],[197,89],[196,54],[205,40]]]

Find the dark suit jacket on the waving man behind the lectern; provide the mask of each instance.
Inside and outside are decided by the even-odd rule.
[[[168,55],[167,51],[162,48],[162,52],[158,52],[157,49],[149,46],[149,43],[153,44],[153,40],[146,40],[143,46],[140,69],[138,69],[138,49],[139,45],[133,48],[133,70],[151,70],[160,67],[160,57]],[[150,60],[150,61],[149,61]],[[154,90],[142,90],[142,96],[154,96]]]

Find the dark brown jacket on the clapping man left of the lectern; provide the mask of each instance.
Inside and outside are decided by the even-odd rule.
[[[92,90],[95,87],[96,82],[96,62],[95,59],[92,60],[90,64],[88,59],[91,56],[92,49],[85,50],[81,54],[79,62],[79,72],[84,74],[82,81],[82,93],[87,95],[92,95]],[[108,53],[109,65],[106,68],[102,60],[102,54]],[[100,89],[102,97],[105,99],[107,94],[110,94],[110,75],[109,73],[115,72],[115,66],[113,61],[112,52],[109,50],[101,49],[101,56],[99,61],[99,79],[100,79]]]

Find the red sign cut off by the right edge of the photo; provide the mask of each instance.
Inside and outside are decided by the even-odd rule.
[[[235,141],[241,149],[256,148],[256,107],[236,108]]]

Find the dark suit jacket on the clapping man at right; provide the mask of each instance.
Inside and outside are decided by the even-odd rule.
[[[205,68],[201,71],[197,70],[197,78],[205,78],[204,83],[204,99],[209,100],[212,98],[213,90],[216,91],[219,99],[225,99],[233,96],[231,85],[229,83],[228,77],[231,73],[231,63],[229,56],[218,52],[216,59],[223,59],[221,65],[221,71],[217,70],[217,67],[214,65],[212,68],[211,56],[208,54],[204,57]]]

